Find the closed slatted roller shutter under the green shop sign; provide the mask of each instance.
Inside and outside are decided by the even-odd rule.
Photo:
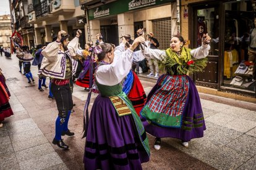
[[[171,41],[171,17],[153,20],[153,34],[159,42],[159,49],[168,49]]]

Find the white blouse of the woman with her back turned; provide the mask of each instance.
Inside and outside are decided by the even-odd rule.
[[[124,79],[132,66],[132,53],[130,49],[125,49],[121,43],[114,51],[113,63],[109,65],[101,65],[95,73],[98,83],[114,86]]]

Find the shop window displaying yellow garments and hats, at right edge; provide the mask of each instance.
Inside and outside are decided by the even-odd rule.
[[[252,1],[225,3],[223,85],[255,91],[256,17]]]

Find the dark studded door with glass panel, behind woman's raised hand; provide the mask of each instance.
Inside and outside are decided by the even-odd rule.
[[[194,49],[202,45],[203,34],[208,33],[212,39],[210,42],[211,49],[207,56],[207,67],[202,72],[193,75],[194,81],[200,86],[218,88],[218,63],[220,56],[219,6],[218,4],[192,6],[192,12],[193,18],[190,20],[191,48]]]

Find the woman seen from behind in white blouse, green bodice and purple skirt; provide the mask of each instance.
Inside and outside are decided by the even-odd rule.
[[[95,84],[100,94],[85,130],[85,169],[142,169],[149,161],[147,134],[121,83],[130,71],[133,50],[144,41],[135,39],[126,51],[125,39],[115,51],[108,43],[96,47],[100,62]]]

